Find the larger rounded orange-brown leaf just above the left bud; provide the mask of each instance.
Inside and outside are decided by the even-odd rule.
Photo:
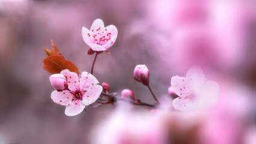
[[[78,68],[73,62],[67,61],[61,56],[51,55],[43,59],[43,68],[51,74],[60,73],[62,70],[68,69],[69,71],[78,74]]]

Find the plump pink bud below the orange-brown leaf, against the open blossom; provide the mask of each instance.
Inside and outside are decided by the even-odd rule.
[[[57,89],[57,91],[61,91],[67,88],[67,79],[63,74],[52,74],[49,77],[51,85]]]

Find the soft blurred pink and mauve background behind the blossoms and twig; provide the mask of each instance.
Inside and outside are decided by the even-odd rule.
[[[158,98],[168,97],[172,76],[201,65],[219,83],[220,100],[199,116],[198,139],[256,143],[255,7],[254,0],[1,0],[0,143],[93,143],[101,137],[91,133],[116,105],[64,115],[64,107],[50,98],[54,88],[42,66],[43,47],[51,48],[52,39],[80,71],[90,71],[94,57],[87,55],[81,28],[98,18],[118,29],[110,54],[98,56],[93,73],[111,92],[132,89],[143,102],[154,103],[148,89],[133,79],[136,65],[147,65]],[[184,121],[180,113],[163,117],[172,124]]]

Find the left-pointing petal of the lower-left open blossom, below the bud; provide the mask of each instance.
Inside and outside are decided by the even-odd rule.
[[[51,94],[52,101],[57,104],[61,104],[62,106],[67,106],[72,101],[72,96],[70,95],[69,91],[64,90],[62,92],[53,91]]]

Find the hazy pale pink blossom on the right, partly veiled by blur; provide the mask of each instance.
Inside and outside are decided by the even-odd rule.
[[[193,66],[187,72],[187,77],[173,76],[170,84],[179,96],[173,100],[176,110],[190,111],[207,109],[217,101],[219,84],[204,80],[202,69]]]

